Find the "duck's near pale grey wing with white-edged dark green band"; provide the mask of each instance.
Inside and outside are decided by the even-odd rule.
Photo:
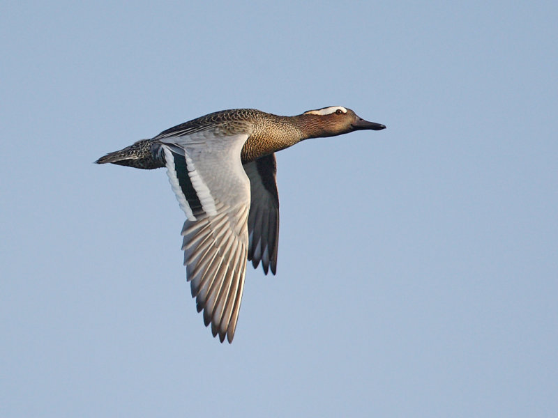
[[[186,222],[184,265],[197,310],[213,336],[234,337],[248,254],[250,180],[241,164],[247,134],[201,130],[157,137]]]

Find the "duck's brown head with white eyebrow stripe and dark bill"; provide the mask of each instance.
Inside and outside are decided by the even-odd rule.
[[[303,139],[318,137],[335,137],[354,130],[382,130],[385,125],[368,122],[356,116],[354,111],[342,106],[330,106],[317,110],[305,111],[294,116],[303,132]]]

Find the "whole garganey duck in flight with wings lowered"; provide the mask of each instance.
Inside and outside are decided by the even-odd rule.
[[[303,139],[382,130],[341,106],[276,116],[218,111],[99,158],[137,169],[167,167],[180,207],[184,265],[197,311],[213,336],[234,337],[246,261],[276,273],[279,198],[275,152]]]

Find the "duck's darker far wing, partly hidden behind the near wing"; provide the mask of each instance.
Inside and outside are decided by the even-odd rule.
[[[250,215],[248,215],[248,260],[257,268],[262,261],[265,274],[277,270],[279,240],[279,196],[275,154],[243,165],[250,178]]]

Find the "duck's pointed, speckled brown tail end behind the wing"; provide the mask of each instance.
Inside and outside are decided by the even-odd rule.
[[[119,151],[108,153],[96,161],[97,164],[107,164],[107,162],[144,170],[165,167],[163,156],[153,150],[151,139],[142,139]]]

